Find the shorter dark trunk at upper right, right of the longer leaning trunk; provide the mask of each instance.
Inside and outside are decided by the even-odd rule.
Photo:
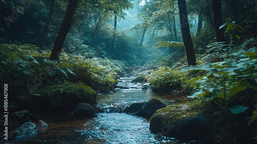
[[[212,0],[213,23],[217,42],[225,42],[224,30],[219,29],[223,25],[221,0]]]

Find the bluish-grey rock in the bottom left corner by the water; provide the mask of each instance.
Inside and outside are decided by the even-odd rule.
[[[35,136],[39,129],[36,124],[32,122],[27,122],[21,125],[21,127],[10,132],[10,139],[19,140],[26,139]]]

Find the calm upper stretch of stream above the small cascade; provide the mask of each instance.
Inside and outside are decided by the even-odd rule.
[[[123,103],[131,104],[138,101],[146,101],[152,98],[158,98],[167,105],[172,105],[178,102],[185,102],[190,100],[186,95],[167,95],[156,94],[150,90],[142,90],[141,83],[131,83],[131,80],[136,77],[121,78],[117,86],[127,87],[127,89],[119,89],[109,94],[100,94],[97,97],[98,103],[113,104]]]

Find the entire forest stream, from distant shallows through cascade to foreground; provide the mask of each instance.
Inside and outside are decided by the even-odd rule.
[[[48,128],[24,143],[201,143],[200,141],[177,140],[153,134],[149,120],[122,112],[128,104],[158,98],[167,105],[189,99],[180,95],[155,94],[147,84],[131,83],[135,77],[121,78],[120,88],[108,94],[99,94],[97,102],[105,110],[91,119],[74,119],[71,114],[42,118]],[[147,90],[144,90],[147,89]],[[29,141],[29,142],[28,142]]]

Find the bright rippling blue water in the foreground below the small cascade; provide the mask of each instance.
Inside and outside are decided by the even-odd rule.
[[[170,143],[172,139],[160,140],[149,131],[149,122],[144,118],[124,113],[100,113],[78,130],[87,140],[98,143]]]

